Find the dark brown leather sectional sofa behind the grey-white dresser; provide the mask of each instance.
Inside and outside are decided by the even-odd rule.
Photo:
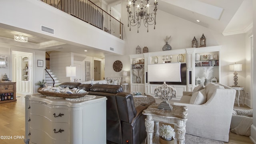
[[[106,96],[107,141],[117,144],[141,144],[146,139],[143,110],[146,104],[134,106],[132,94],[123,92],[122,86],[108,84],[81,84],[65,82],[61,87],[79,88],[91,95]]]

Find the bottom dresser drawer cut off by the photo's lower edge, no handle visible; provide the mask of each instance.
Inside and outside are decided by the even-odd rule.
[[[30,128],[30,144],[70,144],[70,140],[56,140],[44,131]]]

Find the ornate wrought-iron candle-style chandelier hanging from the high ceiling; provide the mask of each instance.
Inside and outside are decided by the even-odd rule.
[[[137,0],[129,1],[127,0],[127,12],[128,12],[128,27],[138,26],[138,33],[141,23],[143,22],[144,26],[148,28],[148,25],[154,24],[154,29],[156,29],[156,5],[158,4],[155,0],[154,2],[154,10],[152,13],[149,13],[150,5],[149,0],[140,0],[140,4],[136,4]],[[144,4],[144,1],[146,4]],[[133,10],[131,10],[133,7]],[[143,20],[143,21],[142,21]],[[148,32],[148,31],[147,31]]]

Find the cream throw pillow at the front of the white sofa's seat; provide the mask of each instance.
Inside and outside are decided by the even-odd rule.
[[[190,104],[204,104],[206,102],[206,90],[202,89],[192,94]]]

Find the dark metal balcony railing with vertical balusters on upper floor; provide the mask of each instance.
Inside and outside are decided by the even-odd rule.
[[[123,40],[123,24],[90,0],[41,0]]]

